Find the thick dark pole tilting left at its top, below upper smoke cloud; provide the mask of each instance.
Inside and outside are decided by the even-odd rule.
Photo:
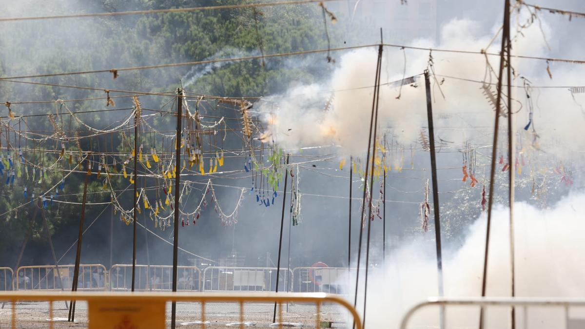
[[[439,296],[443,296],[443,256],[441,254],[441,217],[439,217],[439,183],[437,180],[437,162],[435,153],[435,127],[433,125],[433,106],[431,101],[431,82],[429,71],[425,70],[426,119],[429,126],[429,144],[431,146],[431,173],[433,182],[433,211],[435,214],[435,246],[437,253],[437,273]],[[445,328],[445,309],[441,308],[441,328]]]

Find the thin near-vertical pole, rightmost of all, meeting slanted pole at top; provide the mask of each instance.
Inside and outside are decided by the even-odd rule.
[[[507,4],[505,5],[505,11],[508,13],[508,29],[506,33],[507,39],[507,47],[506,47],[506,63],[507,63],[507,77],[508,77],[508,159],[510,159],[510,176],[508,177],[509,186],[508,186],[508,197],[510,201],[510,274],[512,277],[512,286],[511,286],[511,294],[512,297],[516,294],[516,287],[515,287],[515,252],[514,252],[514,175],[515,175],[515,154],[514,154],[514,129],[512,127],[512,74],[511,74],[511,66],[512,62],[510,61],[510,51],[512,45],[510,44],[510,1],[508,0]],[[514,306],[512,306],[512,313],[511,313],[511,323],[512,329],[516,328],[516,314]]]

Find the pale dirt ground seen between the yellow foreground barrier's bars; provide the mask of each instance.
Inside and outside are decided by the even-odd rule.
[[[171,304],[167,303],[167,327],[170,327]],[[269,328],[273,323],[274,304],[245,304],[245,326]],[[87,303],[75,306],[75,323],[67,322],[65,302],[56,302],[53,310],[54,328],[87,328]],[[11,328],[12,305],[0,309],[0,328]],[[276,321],[279,322],[278,308]],[[201,305],[177,303],[177,327],[201,328]],[[239,304],[209,303],[205,305],[206,328],[239,328]],[[283,327],[315,327],[314,305],[283,304]],[[340,306],[321,306],[321,321],[331,322],[332,327],[345,327],[346,314]],[[323,326],[324,324],[322,324]],[[274,326],[274,324],[273,324]],[[277,326],[278,327],[278,326]],[[20,303],[16,306],[16,328],[49,328],[49,303]]]

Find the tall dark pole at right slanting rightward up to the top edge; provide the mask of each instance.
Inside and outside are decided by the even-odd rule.
[[[486,248],[484,251],[483,258],[483,276],[481,280],[481,297],[486,296],[486,284],[487,284],[487,259],[490,251],[490,226],[491,226],[491,208],[494,202],[494,178],[495,178],[495,157],[497,154],[498,145],[498,131],[500,125],[500,111],[501,111],[501,100],[502,100],[502,74],[504,73],[504,50],[507,40],[507,36],[510,31],[510,0],[505,0],[504,4],[504,27],[502,32],[502,46],[500,50],[500,69],[498,71],[498,88],[497,97],[495,101],[495,120],[494,120],[494,141],[491,148],[491,172],[490,172],[490,195],[487,200],[487,225],[486,225]],[[510,169],[512,170],[512,169]],[[483,329],[483,307],[480,308],[479,313],[479,328]]]

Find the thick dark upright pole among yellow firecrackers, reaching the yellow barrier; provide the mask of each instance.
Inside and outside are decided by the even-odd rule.
[[[179,199],[181,198],[181,122],[183,121],[183,90],[177,88],[177,155],[175,162],[175,222],[173,231],[173,292],[177,291],[177,265],[178,265],[178,247],[179,247]],[[177,316],[177,303],[173,301],[171,306],[171,329],[175,329]]]

